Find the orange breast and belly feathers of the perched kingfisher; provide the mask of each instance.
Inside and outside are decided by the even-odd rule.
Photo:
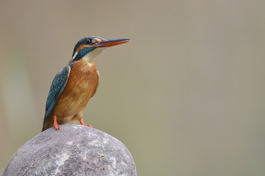
[[[97,85],[97,69],[93,63],[77,61],[71,68],[70,75],[50,118],[57,116],[58,124],[73,120],[75,115],[82,117],[82,112]]]

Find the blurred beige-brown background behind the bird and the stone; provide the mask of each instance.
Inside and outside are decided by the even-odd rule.
[[[85,36],[132,38],[95,60],[84,122],[139,176],[265,173],[264,0],[1,0],[0,172],[41,132],[55,74]]]

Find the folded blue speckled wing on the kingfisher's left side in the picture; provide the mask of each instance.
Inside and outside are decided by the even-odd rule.
[[[46,101],[46,109],[45,109],[45,116],[43,121],[43,129],[44,131],[45,122],[47,121],[50,113],[52,112],[56,102],[58,101],[70,74],[71,67],[65,66],[63,69],[61,69],[56,76],[53,79],[52,86],[50,88],[50,92],[47,97]]]

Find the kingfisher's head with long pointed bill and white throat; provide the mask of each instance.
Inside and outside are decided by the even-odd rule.
[[[75,45],[73,56],[69,63],[82,58],[93,61],[106,47],[124,44],[130,41],[131,39],[103,39],[96,36],[84,37]]]

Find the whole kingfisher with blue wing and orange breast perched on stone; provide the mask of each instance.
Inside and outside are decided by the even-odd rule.
[[[72,59],[53,79],[46,101],[42,132],[72,121],[83,123],[83,111],[98,89],[100,75],[94,63],[106,47],[130,42],[131,39],[84,37],[75,45]],[[91,127],[91,125],[87,125]]]

